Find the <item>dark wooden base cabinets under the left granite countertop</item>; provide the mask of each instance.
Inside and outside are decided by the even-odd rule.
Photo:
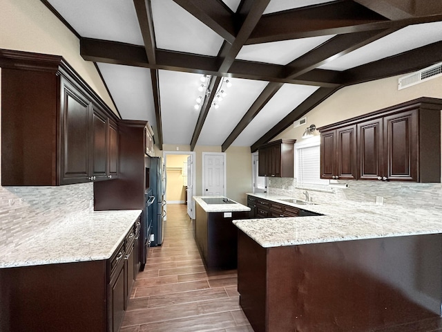
[[[110,259],[0,268],[0,331],[119,331],[136,277],[138,221]]]

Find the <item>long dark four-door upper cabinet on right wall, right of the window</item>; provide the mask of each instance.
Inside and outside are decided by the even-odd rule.
[[[441,182],[441,109],[442,100],[419,98],[319,128],[321,177],[352,178],[343,175],[352,169],[361,180]],[[339,163],[347,171],[335,174]]]

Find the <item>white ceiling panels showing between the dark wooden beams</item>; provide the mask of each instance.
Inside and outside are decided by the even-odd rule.
[[[223,1],[232,12],[238,10],[240,0]],[[144,46],[133,1],[48,0],[48,2],[82,38]],[[271,0],[264,14],[327,2],[336,1]],[[224,37],[215,33],[175,1],[151,0],[151,9],[157,49],[210,57],[216,57],[220,52]],[[335,34],[322,33],[318,37],[244,45],[240,48],[236,59],[285,66],[334,36]],[[441,40],[441,21],[407,26],[346,55],[336,57],[318,68],[345,71]],[[151,69],[104,62],[97,62],[97,66],[121,117],[125,120],[148,120],[156,131],[158,125],[155,118]],[[200,107],[195,110],[195,99],[198,95],[204,95],[198,91],[202,73],[203,69],[200,73],[163,69],[158,71],[164,144],[191,144],[201,109]],[[225,89],[227,96],[219,103],[220,107],[209,109],[197,145],[222,145],[269,84],[268,80],[251,80],[225,75],[233,85],[230,89]],[[247,124],[232,145],[253,145],[317,89],[318,86],[285,83],[262,107],[258,115]]]

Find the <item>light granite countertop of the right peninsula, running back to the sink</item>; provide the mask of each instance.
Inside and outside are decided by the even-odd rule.
[[[281,201],[291,198],[287,196],[248,195],[324,214],[233,221],[240,230],[264,248],[442,233],[442,213],[437,210],[407,210],[403,206],[352,201],[330,205],[298,205]]]

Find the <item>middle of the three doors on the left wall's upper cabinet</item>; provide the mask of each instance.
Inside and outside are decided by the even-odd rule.
[[[93,112],[93,176],[94,180],[107,179],[108,149],[107,117],[98,111]]]

